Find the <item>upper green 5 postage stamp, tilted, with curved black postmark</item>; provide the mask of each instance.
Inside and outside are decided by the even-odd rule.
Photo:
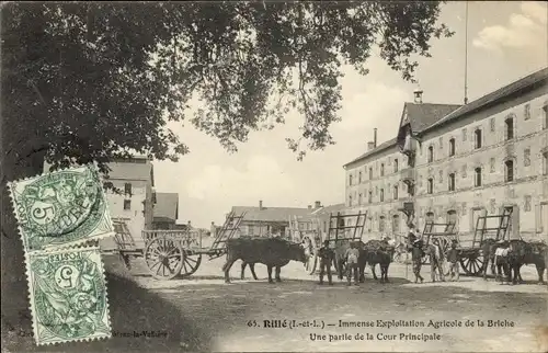
[[[114,235],[93,164],[8,184],[26,252],[77,246]]]

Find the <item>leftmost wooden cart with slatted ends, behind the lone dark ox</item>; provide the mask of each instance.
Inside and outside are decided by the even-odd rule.
[[[230,213],[208,248],[202,247],[202,232],[191,229],[142,230],[142,240],[136,242],[123,221],[115,221],[115,241],[128,269],[132,259],[142,258],[155,278],[186,277],[198,270],[202,255],[213,260],[226,254],[226,242],[236,235],[244,215]]]

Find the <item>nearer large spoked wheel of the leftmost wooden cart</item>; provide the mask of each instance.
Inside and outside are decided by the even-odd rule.
[[[174,239],[158,237],[145,249],[145,261],[150,274],[157,280],[172,280],[181,273],[183,248]]]

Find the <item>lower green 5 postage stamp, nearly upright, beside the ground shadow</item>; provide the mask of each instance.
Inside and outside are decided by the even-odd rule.
[[[38,345],[111,337],[99,248],[32,252],[27,278]]]

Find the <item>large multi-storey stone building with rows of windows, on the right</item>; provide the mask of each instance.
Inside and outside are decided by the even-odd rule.
[[[404,103],[396,138],[345,164],[346,206],[368,212],[369,237],[453,218],[473,232],[479,214],[513,208],[512,237],[548,239],[548,68],[464,106]]]

